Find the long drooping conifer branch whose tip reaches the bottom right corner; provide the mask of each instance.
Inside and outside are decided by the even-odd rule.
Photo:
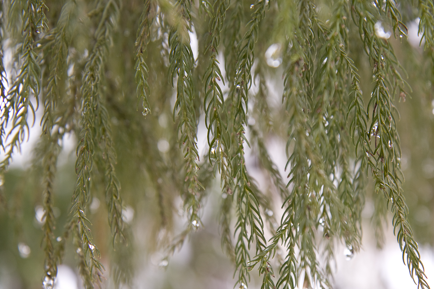
[[[374,91],[368,104],[368,112],[372,109],[372,122],[367,136],[360,136],[358,142],[362,141],[367,149],[362,158],[365,158],[367,169],[371,169],[375,181],[375,192],[383,193],[387,204],[391,205],[394,214],[394,233],[402,251],[404,264],[408,266],[410,275],[418,287],[429,288],[424,266],[418,253],[418,244],[414,240],[413,232],[408,223],[408,208],[404,203],[402,195],[402,172],[401,172],[401,147],[399,136],[396,131],[397,110],[392,102],[395,94],[405,94],[405,81],[397,71],[401,68],[391,44],[385,37],[375,31],[375,24],[378,23],[376,13],[364,13],[372,11],[369,3],[358,0],[352,1],[353,19],[358,25],[360,36],[365,45],[365,51],[374,74]],[[377,24],[378,25],[378,24]],[[356,121],[360,123],[360,121]],[[362,127],[357,128],[359,132]],[[361,140],[368,138],[368,142]],[[372,140],[372,138],[374,140]],[[398,231],[398,232],[397,232]]]

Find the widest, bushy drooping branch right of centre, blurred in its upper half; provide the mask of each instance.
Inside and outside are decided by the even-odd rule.
[[[298,6],[299,5],[299,6]],[[286,245],[289,255],[283,264],[281,276],[276,283],[283,288],[294,288],[299,282],[299,276],[303,271],[310,272],[312,279],[305,279],[305,283],[319,284],[328,287],[329,283],[325,273],[319,266],[316,258],[315,231],[319,224],[320,213],[324,210],[323,201],[338,204],[333,194],[334,187],[325,175],[325,166],[322,159],[322,141],[318,140],[312,129],[317,123],[315,115],[316,98],[314,97],[314,79],[312,68],[315,57],[315,35],[313,27],[319,23],[316,18],[315,7],[310,1],[301,1],[297,10],[299,15],[298,27],[293,38],[286,42],[287,68],[284,73],[285,88],[283,100],[289,114],[289,141],[287,150],[292,147],[287,167],[288,177],[291,179],[287,186],[292,186],[292,192],[283,202],[286,210],[283,214],[280,227],[272,238],[269,250],[276,250],[279,240]],[[296,10],[296,11],[297,11]],[[296,55],[296,57],[294,57]],[[321,184],[321,185],[319,185]],[[322,202],[320,202],[323,200]],[[302,208],[302,209],[297,209]],[[326,222],[326,220],[324,220]],[[295,247],[299,248],[298,257],[293,255]],[[267,248],[268,249],[268,248]],[[312,286],[313,286],[312,284]]]

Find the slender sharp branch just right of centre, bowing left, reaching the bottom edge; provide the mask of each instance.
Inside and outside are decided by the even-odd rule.
[[[255,59],[255,42],[258,39],[259,23],[265,16],[267,6],[270,5],[266,1],[256,1],[251,8],[254,9],[252,19],[247,23],[247,32],[243,39],[237,45],[237,63],[235,68],[235,79],[232,84],[230,80],[230,97],[233,102],[231,114],[231,136],[233,137],[234,156],[232,158],[232,176],[235,179],[235,191],[237,194],[237,226],[235,234],[237,240],[235,245],[236,254],[236,269],[238,271],[238,281],[240,288],[247,286],[250,279],[249,271],[260,263],[260,266],[266,268],[267,278],[270,268],[265,262],[250,262],[249,249],[251,244],[256,243],[256,254],[260,253],[266,247],[264,237],[264,224],[260,214],[260,204],[257,196],[250,188],[250,178],[247,173],[246,163],[244,159],[244,141],[247,142],[244,126],[246,124],[248,91],[252,85],[252,66]],[[248,143],[248,142],[247,142]],[[250,229],[250,230],[249,230]],[[260,269],[260,272],[264,272]],[[272,269],[271,269],[272,272]],[[264,283],[268,288],[271,283]]]

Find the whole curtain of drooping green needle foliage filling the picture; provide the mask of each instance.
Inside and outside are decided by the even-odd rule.
[[[419,48],[408,42],[411,23]],[[167,266],[204,227],[216,184],[235,287],[247,288],[257,269],[263,289],[332,288],[335,246],[360,250],[372,201],[378,244],[390,209],[402,260],[429,288],[415,237],[432,242],[434,232],[411,228],[423,226],[412,217],[418,201],[408,207],[405,195],[423,188],[404,183],[403,160],[434,162],[432,0],[11,0],[1,1],[0,37],[0,225],[14,220],[14,244],[26,240],[26,189],[13,188],[10,164],[40,120],[21,187],[43,209],[44,288],[71,252],[86,289],[105,282],[103,263],[115,286],[131,286],[146,222],[146,247],[163,250]],[[69,136],[75,187],[60,190],[72,201],[57,219]],[[287,181],[269,140],[286,143]],[[420,183],[434,208],[429,164]],[[94,214],[98,198],[105,221]],[[146,203],[144,223],[130,225],[128,203]]]

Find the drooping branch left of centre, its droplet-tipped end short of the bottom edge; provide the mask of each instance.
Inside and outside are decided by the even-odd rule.
[[[202,187],[197,179],[199,166],[196,159],[199,159],[197,152],[197,118],[194,110],[194,81],[193,65],[194,57],[190,46],[191,31],[191,3],[187,0],[180,0],[175,3],[174,14],[179,16],[175,19],[176,23],[169,33],[169,47],[171,48],[169,57],[169,71],[173,79],[177,80],[177,98],[173,110],[173,117],[178,111],[179,122],[178,132],[180,142],[183,146],[185,159],[185,185],[187,194],[184,196],[184,207],[188,213],[188,230],[197,229],[201,226],[201,219],[198,211],[201,207],[199,202],[199,188]]]

